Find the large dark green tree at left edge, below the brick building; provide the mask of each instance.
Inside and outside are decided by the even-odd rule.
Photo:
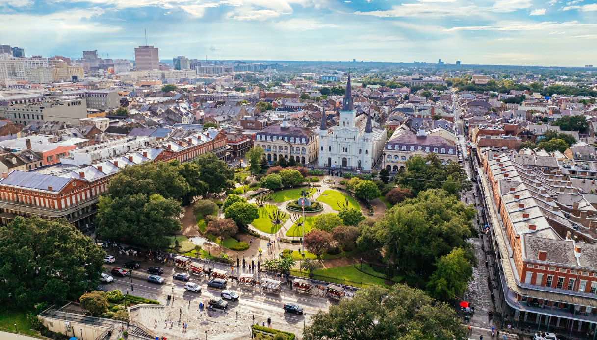
[[[0,304],[28,309],[79,298],[96,288],[105,255],[64,219],[16,217],[0,228]]]

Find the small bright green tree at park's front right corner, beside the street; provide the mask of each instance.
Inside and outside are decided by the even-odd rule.
[[[473,277],[473,267],[466,256],[464,249],[454,248],[435,262],[437,269],[427,283],[427,290],[433,298],[450,302],[463,296]]]

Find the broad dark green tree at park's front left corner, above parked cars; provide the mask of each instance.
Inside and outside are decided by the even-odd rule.
[[[105,239],[160,248],[166,236],[180,231],[180,203],[160,194],[101,196],[97,212],[97,234]]]

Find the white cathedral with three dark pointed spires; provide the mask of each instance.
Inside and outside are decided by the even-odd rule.
[[[325,110],[321,116],[319,134],[319,166],[371,171],[381,162],[381,153],[386,142],[386,129],[377,128],[371,115],[356,116],[352,103],[350,75],[346,83],[346,93],[340,122],[329,129],[325,125]]]

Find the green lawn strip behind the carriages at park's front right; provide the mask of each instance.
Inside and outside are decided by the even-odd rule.
[[[363,270],[367,271],[367,269],[365,267],[368,267],[367,264],[363,264]],[[372,268],[370,268],[371,271],[373,271]],[[309,275],[306,272],[300,272],[299,270],[293,269],[291,270],[292,274],[296,275],[296,276],[302,276],[302,277],[309,277]],[[380,273],[375,272],[377,276],[383,276],[380,275]],[[320,269],[316,269],[315,271],[313,271],[313,274],[315,275],[314,279],[321,279],[321,280],[325,280],[328,282],[334,282],[334,283],[346,283],[347,285],[351,285],[351,286],[356,286],[356,287],[361,287],[361,288],[367,288],[368,286],[371,285],[380,285],[380,286],[385,286],[388,287],[389,285],[386,284],[386,280],[381,279],[380,277],[377,276],[371,276],[368,274],[363,273],[362,271],[359,271],[358,269],[355,268],[354,265],[343,265],[341,267],[331,267],[331,268],[320,268]],[[350,281],[350,282],[344,282],[344,280]]]

